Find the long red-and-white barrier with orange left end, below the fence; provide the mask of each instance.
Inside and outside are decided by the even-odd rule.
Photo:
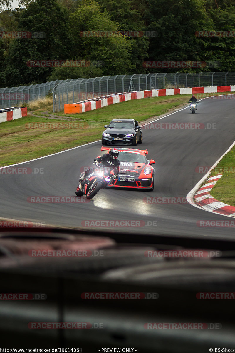
[[[103,108],[110,104],[129,101],[131,99],[141,99],[148,97],[163,97],[177,94],[197,94],[197,93],[217,93],[217,92],[234,92],[235,86],[211,86],[211,87],[192,87],[192,88],[165,88],[159,90],[147,90],[137,92],[126,92],[100,99],[85,101],[82,103],[64,104],[64,113],[84,113],[88,110]]]

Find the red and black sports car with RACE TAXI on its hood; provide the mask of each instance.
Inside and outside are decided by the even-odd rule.
[[[128,187],[134,189],[146,189],[152,191],[154,188],[154,168],[151,164],[155,161],[147,160],[148,150],[137,150],[134,148],[117,148],[120,161],[119,174],[107,187]],[[109,151],[109,147],[101,148],[101,151]]]

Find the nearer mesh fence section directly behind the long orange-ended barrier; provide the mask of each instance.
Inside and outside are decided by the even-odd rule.
[[[175,72],[117,75],[58,83],[53,91],[54,112],[64,104],[78,103],[110,94],[162,88],[235,85],[235,72]]]

